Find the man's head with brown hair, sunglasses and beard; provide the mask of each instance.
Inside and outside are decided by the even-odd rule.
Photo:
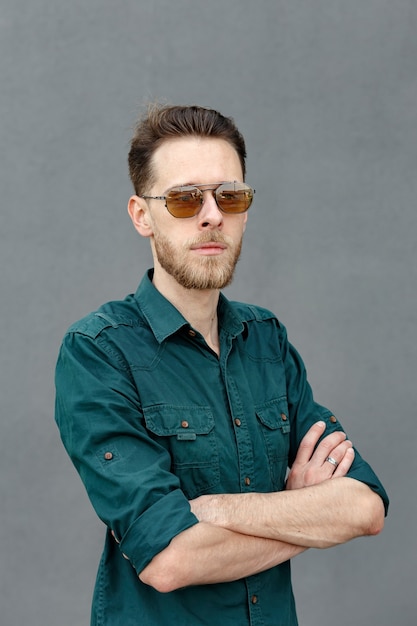
[[[129,215],[150,239],[154,283],[165,291],[228,285],[253,190],[245,144],[230,118],[202,107],[153,108],[139,122],[129,166]],[[185,219],[182,219],[185,218]]]

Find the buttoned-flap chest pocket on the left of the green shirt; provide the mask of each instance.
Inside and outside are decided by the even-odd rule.
[[[192,499],[220,481],[214,416],[209,407],[157,405],[143,410],[146,427],[171,457],[171,471]]]

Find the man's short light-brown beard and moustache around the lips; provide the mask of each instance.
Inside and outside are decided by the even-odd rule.
[[[209,242],[223,243],[227,248],[221,255],[195,255],[190,259],[192,246]],[[185,289],[223,289],[233,280],[242,249],[242,237],[238,243],[233,243],[230,237],[213,231],[177,248],[168,237],[154,231],[154,245],[161,267]]]

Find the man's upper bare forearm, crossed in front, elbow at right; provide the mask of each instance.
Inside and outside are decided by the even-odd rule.
[[[201,496],[191,510],[228,530],[315,548],[377,534],[384,520],[381,498],[352,478],[277,493]]]

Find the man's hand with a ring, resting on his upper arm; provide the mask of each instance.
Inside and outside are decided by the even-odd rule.
[[[325,428],[325,422],[316,422],[303,437],[288,474],[287,490],[346,476],[355,458],[352,442],[346,439],[344,432],[337,431],[324,437],[317,445]],[[331,460],[326,460],[328,458]]]

